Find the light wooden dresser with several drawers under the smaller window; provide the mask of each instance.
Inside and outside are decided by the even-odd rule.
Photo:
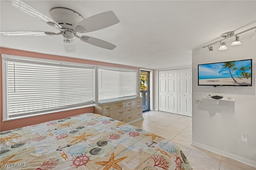
[[[132,124],[143,120],[142,97],[110,102],[94,102],[94,113]]]

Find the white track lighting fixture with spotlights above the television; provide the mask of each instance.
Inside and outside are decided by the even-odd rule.
[[[234,42],[233,42],[231,45],[239,45],[239,44],[241,44],[241,42],[239,41],[239,36],[237,36],[237,35],[242,34],[242,33],[244,33],[244,32],[248,32],[248,31],[250,31],[250,30],[252,30],[252,29],[256,29],[256,26],[255,26],[255,27],[252,27],[252,28],[249,28],[248,30],[244,30],[244,31],[242,31],[242,32],[239,32],[239,33],[237,33],[237,34],[234,34],[234,31],[226,32],[226,33],[224,33],[224,34],[221,35],[221,37],[223,37],[224,39],[219,40],[219,41],[214,42],[214,43],[211,43],[211,44],[208,44],[208,45],[205,45],[203,48],[208,47],[209,51],[212,51],[212,50],[213,50],[213,47],[212,47],[211,45],[220,42],[221,46],[220,46],[219,50],[226,50],[226,49],[228,49],[227,46],[226,46],[226,42],[222,42],[222,41],[225,40],[226,38],[230,38],[230,37],[234,37],[234,36],[235,36],[235,40],[234,40]],[[256,39],[256,35],[254,35],[254,36],[252,37],[252,39]],[[222,43],[221,43],[221,42],[222,42]]]

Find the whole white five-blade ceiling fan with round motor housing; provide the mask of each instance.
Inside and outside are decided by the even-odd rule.
[[[10,31],[0,32],[7,36],[55,36],[62,35],[64,37],[64,49],[66,52],[75,52],[76,43],[74,38],[77,37],[81,41],[102,47],[105,49],[114,49],[116,45],[90,36],[78,36],[77,33],[87,33],[107,28],[119,23],[118,18],[113,11],[103,12],[89,18],[84,19],[77,12],[67,8],[53,8],[50,10],[51,18],[40,13],[21,0],[6,1],[19,10],[33,16],[49,26],[59,30],[54,32],[38,32],[38,31]]]

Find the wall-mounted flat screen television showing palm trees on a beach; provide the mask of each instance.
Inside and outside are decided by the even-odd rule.
[[[199,64],[198,85],[252,86],[252,59]]]

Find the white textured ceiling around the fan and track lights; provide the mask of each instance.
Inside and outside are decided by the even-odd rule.
[[[66,53],[62,36],[14,37],[1,35],[0,46],[38,53],[161,69],[191,65],[192,49],[255,26],[256,1],[86,1],[28,0],[29,6],[50,17],[52,8],[69,8],[84,18],[114,11],[120,23],[88,35],[117,45],[103,49],[76,39],[76,52]],[[46,23],[0,1],[0,31],[58,32]],[[240,35],[240,41],[255,30]],[[231,39],[231,38],[230,38]],[[232,41],[232,40],[230,40]],[[208,49],[205,49],[208,50]],[[214,49],[217,50],[217,49]],[[209,51],[210,52],[210,51]]]

